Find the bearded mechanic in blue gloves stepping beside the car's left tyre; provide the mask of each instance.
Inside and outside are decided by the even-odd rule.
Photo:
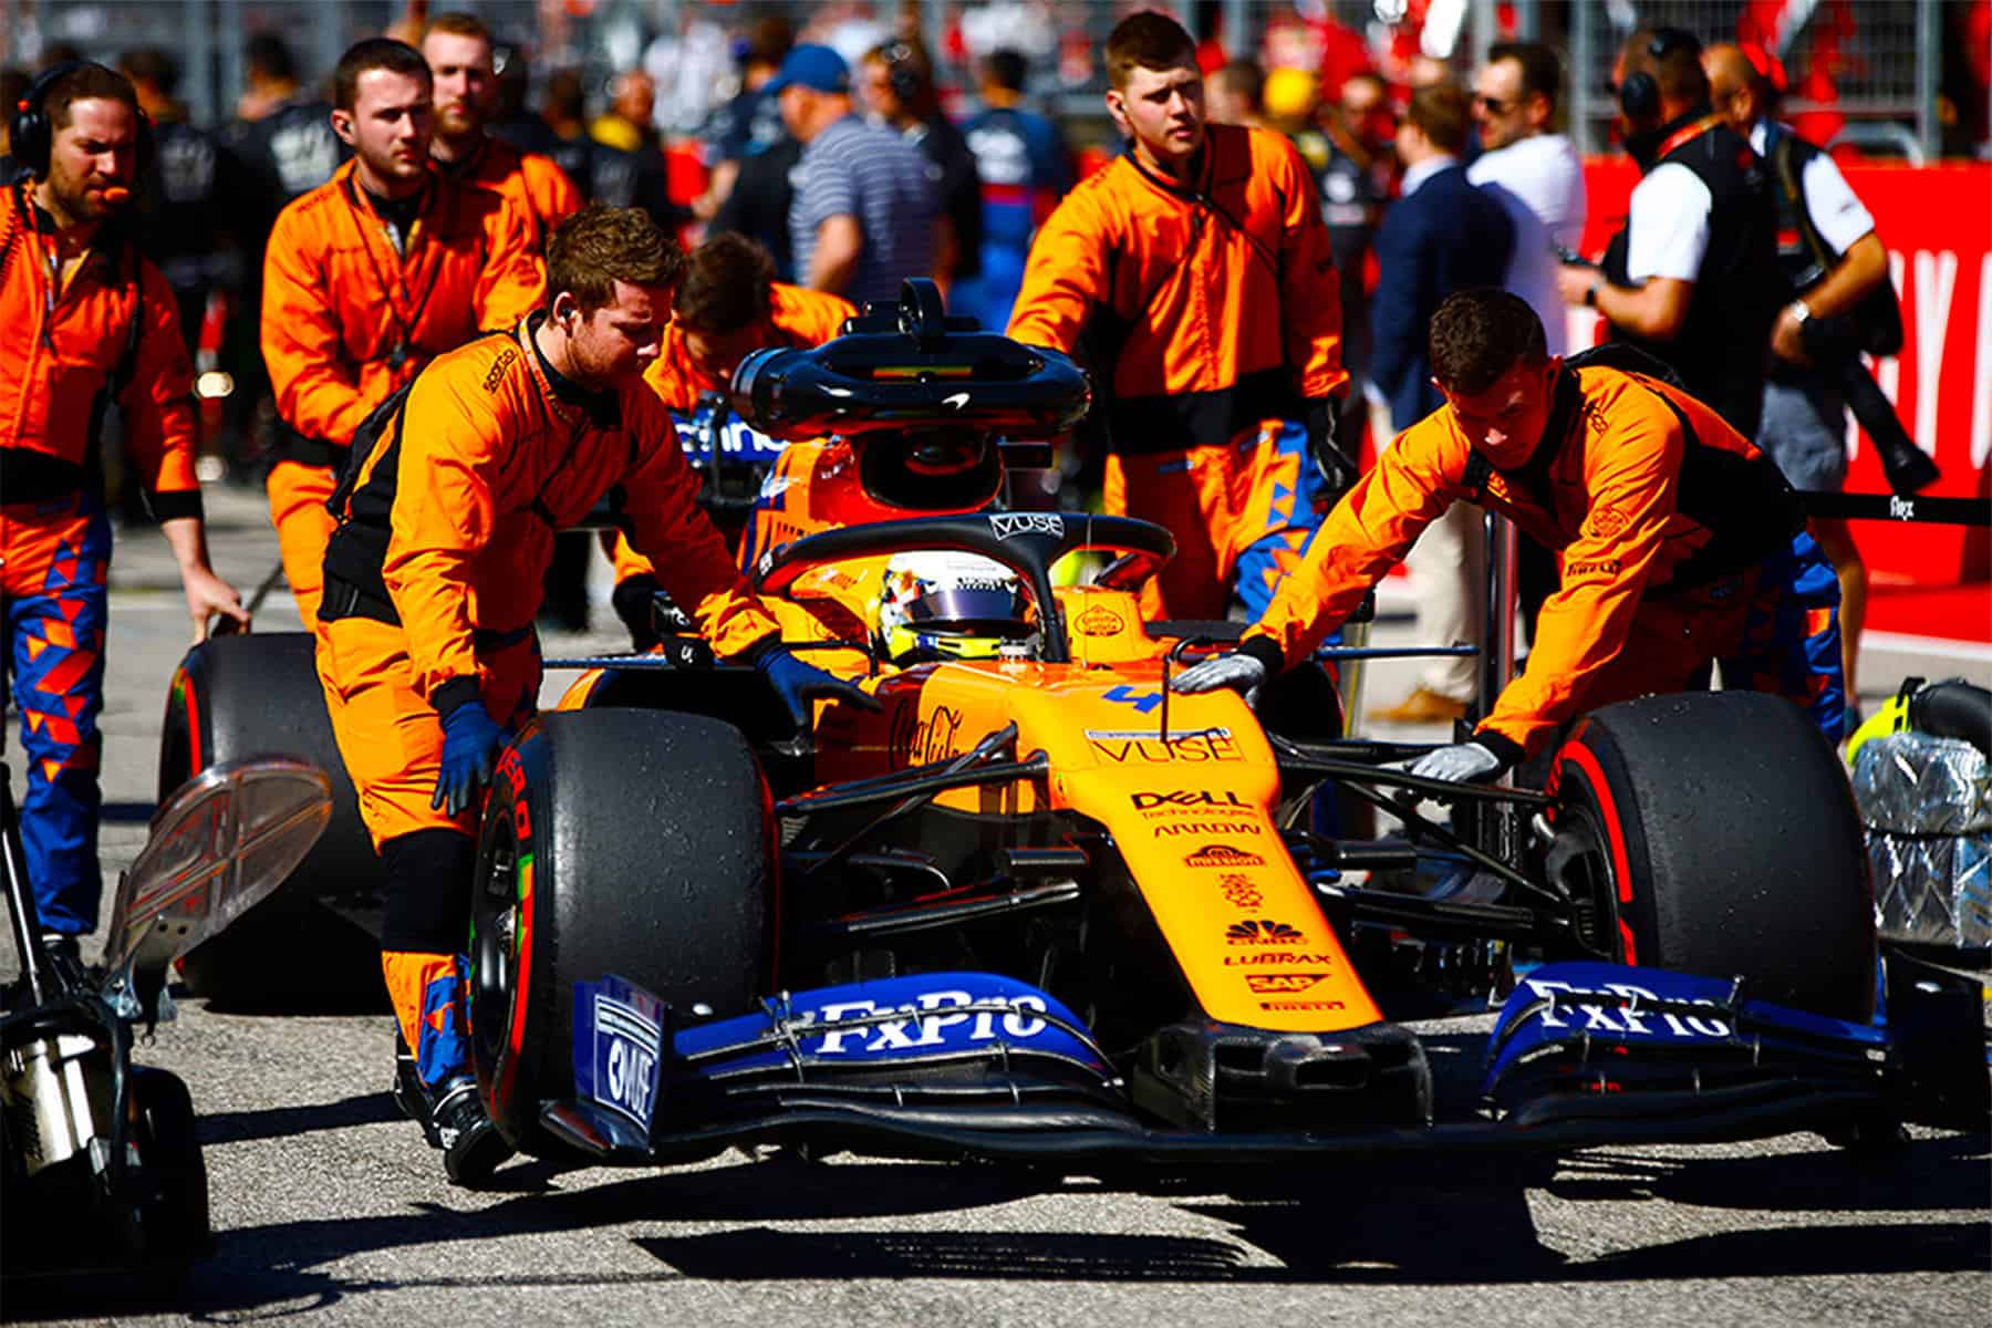
[[[432,360],[357,440],[317,623],[333,733],[386,866],[382,974],[412,1049],[398,1095],[466,1183],[506,1157],[462,1021],[480,786],[536,705],[554,534],[608,496],[713,649],[759,667],[799,725],[809,697],[876,705],[781,647],[639,380],[683,255],[641,209],[590,207],[548,261],[546,311]]]

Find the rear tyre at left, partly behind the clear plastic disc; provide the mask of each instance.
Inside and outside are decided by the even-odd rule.
[[[203,769],[297,757],[333,778],[333,820],[283,888],[181,960],[195,996],[235,1009],[382,1005],[380,948],[321,896],[378,894],[380,860],[333,741],[305,631],[229,635],[187,651],[165,697],[159,802]]]

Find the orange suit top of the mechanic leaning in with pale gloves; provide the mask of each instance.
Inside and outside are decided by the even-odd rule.
[[[1645,595],[1709,585],[1791,544],[1803,514],[1777,468],[1687,392],[1616,368],[1558,374],[1534,456],[1492,470],[1452,406],[1398,434],[1321,526],[1245,641],[1305,659],[1454,502],[1500,512],[1556,553],[1528,669],[1478,735],[1536,751],[1625,643]]]

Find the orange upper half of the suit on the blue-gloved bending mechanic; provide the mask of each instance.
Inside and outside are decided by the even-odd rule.
[[[532,342],[538,323],[442,354],[414,380],[339,512],[321,617],[337,615],[341,581],[359,589],[361,615],[400,621],[416,687],[434,697],[476,679],[476,633],[532,625],[554,532],[610,496],[715,651],[775,633],[697,506],[663,402],[635,378],[614,392],[562,378]]]

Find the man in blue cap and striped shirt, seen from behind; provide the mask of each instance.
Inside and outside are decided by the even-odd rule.
[[[797,46],[767,92],[803,143],[789,203],[797,281],[863,307],[934,275],[940,187],[918,147],[853,113],[845,58]]]

